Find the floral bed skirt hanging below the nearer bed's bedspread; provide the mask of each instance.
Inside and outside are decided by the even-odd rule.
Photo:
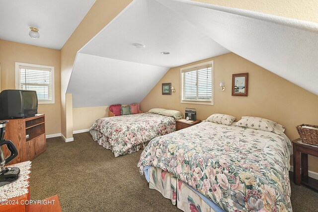
[[[170,199],[171,203],[176,205],[178,209],[184,212],[224,212],[216,205],[212,208],[188,185],[169,172],[153,166],[150,167],[149,172],[149,188],[159,191],[163,197]]]

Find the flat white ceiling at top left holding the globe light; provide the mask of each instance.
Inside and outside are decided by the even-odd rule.
[[[61,49],[95,0],[0,0],[0,39]],[[40,38],[29,36],[29,27]]]

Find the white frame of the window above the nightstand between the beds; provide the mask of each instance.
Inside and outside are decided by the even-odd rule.
[[[185,103],[185,104],[202,104],[202,105],[214,105],[214,67],[213,67],[214,61],[209,61],[205,63],[200,63],[196,64],[193,66],[188,66],[180,69],[180,103]],[[194,69],[196,67],[200,66],[206,66],[206,65],[211,65],[211,71],[212,71],[212,98],[211,101],[204,101],[204,100],[183,100],[182,99],[182,94],[183,94],[183,81],[182,81],[182,71],[187,70],[187,69]]]

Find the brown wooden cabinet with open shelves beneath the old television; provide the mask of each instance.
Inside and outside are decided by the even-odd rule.
[[[4,139],[14,143],[18,155],[6,165],[33,160],[46,151],[44,114],[7,121],[9,122],[6,125]],[[7,148],[2,146],[2,149],[7,157],[9,155]]]

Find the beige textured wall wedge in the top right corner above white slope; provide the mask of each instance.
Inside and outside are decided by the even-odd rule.
[[[317,0],[194,0],[318,23]]]

